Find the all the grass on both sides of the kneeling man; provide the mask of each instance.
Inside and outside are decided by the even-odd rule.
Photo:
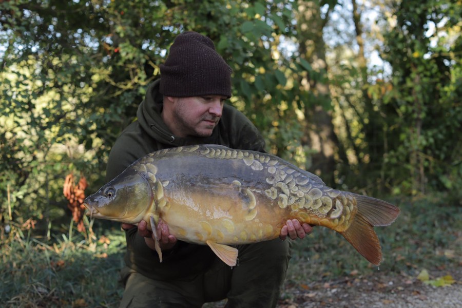
[[[451,271],[462,266],[462,207],[443,199],[395,200],[396,222],[376,228],[382,243],[379,268],[365,261],[340,235],[316,227],[293,243],[286,292],[313,281],[355,273],[416,276],[427,268]],[[112,225],[115,226],[115,225]],[[69,232],[70,230],[70,232]],[[117,307],[122,295],[119,269],[125,237],[99,228],[93,239],[69,228],[45,241],[12,229],[0,246],[0,302],[6,307]],[[73,235],[72,235],[73,233]]]

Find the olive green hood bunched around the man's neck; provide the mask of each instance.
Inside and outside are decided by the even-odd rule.
[[[163,95],[159,91],[160,79],[149,85],[146,97],[138,107],[137,117],[141,127],[153,139],[171,146],[182,146],[192,144],[215,144],[219,136],[217,125],[210,137],[187,137],[174,136],[162,119]],[[220,120],[221,121],[221,120]]]

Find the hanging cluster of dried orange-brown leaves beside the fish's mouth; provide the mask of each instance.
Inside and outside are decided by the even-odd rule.
[[[63,186],[64,197],[69,201],[67,207],[72,211],[72,219],[77,223],[79,232],[85,231],[82,217],[85,213],[85,188],[87,188],[87,179],[82,175],[79,183],[75,185],[74,175],[72,172],[66,176]]]

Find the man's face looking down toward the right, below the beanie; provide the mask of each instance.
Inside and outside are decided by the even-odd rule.
[[[173,104],[172,132],[179,137],[209,137],[221,118],[226,97],[171,98]]]

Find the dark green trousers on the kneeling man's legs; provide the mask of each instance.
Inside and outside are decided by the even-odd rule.
[[[201,307],[227,298],[226,307],[275,307],[290,260],[289,241],[275,239],[239,245],[233,268],[216,258],[207,271],[173,281],[147,278],[122,269],[125,284],[120,307]]]

